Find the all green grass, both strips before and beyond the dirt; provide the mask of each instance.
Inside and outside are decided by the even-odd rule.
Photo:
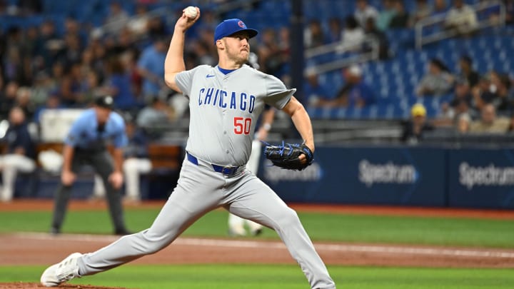
[[[156,209],[129,208],[131,230],[148,228]],[[399,216],[331,215],[298,213],[313,240],[355,243],[411,243],[514,248],[512,220],[422,218]],[[183,235],[225,237],[228,213],[213,211]],[[48,231],[50,212],[0,212],[0,233]],[[66,233],[111,233],[107,211],[70,211]],[[276,239],[266,229],[260,238]],[[1,282],[39,282],[44,266],[0,266]],[[377,268],[328,266],[338,288],[363,289],[476,289],[514,288],[512,269]],[[298,265],[132,265],[73,280],[74,284],[126,288],[308,288]]]

